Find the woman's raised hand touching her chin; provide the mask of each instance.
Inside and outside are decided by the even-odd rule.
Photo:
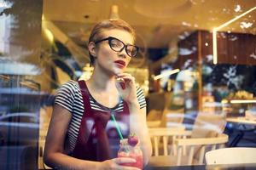
[[[120,73],[117,75],[123,81],[117,81],[116,87],[122,99],[128,103],[137,102],[137,88],[135,78],[128,73]]]

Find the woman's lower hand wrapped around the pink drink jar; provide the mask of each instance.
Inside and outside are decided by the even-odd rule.
[[[134,163],[135,159],[129,157],[113,158],[111,160],[102,161],[99,166],[99,170],[140,170],[137,167],[121,166],[122,163]]]

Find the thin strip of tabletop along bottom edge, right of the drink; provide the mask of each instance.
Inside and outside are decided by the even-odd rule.
[[[256,163],[231,164],[231,165],[194,165],[179,167],[145,167],[145,170],[255,170]]]

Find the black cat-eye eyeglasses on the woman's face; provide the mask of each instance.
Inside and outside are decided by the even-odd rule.
[[[113,51],[121,52],[125,48],[126,54],[128,54],[130,57],[136,57],[137,52],[139,50],[139,48],[137,46],[134,46],[131,44],[125,45],[124,42],[122,42],[121,40],[119,40],[115,37],[104,38],[102,40],[96,41],[95,44],[99,43],[99,42],[106,41],[106,40],[108,40],[108,45],[111,49],[113,49]]]

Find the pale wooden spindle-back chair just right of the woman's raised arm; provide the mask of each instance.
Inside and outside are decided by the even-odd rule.
[[[160,167],[202,164],[207,148],[215,150],[228,141],[224,133],[212,138],[189,139],[191,131],[173,128],[149,129],[149,134],[154,149],[149,164]]]

